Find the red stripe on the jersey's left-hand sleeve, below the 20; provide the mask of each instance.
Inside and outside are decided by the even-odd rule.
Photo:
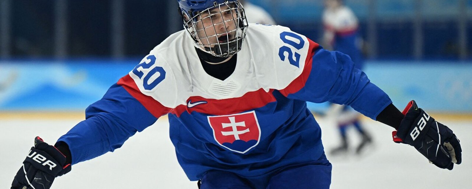
[[[125,77],[121,77],[121,79],[117,82],[118,85],[125,88],[125,90],[131,94],[131,96],[135,97],[141,104],[143,104],[144,108],[147,111],[151,112],[151,114],[159,118],[167,113],[169,113],[172,109],[163,106],[161,103],[154,100],[151,96],[146,96],[141,91],[139,91],[138,86],[135,83],[135,80],[131,78],[131,76],[126,75]]]

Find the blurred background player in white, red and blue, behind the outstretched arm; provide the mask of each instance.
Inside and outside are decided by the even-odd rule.
[[[325,0],[323,12],[323,47],[347,54],[354,62],[355,68],[362,69],[363,59],[361,52],[361,39],[358,36],[358,20],[351,9],[343,4],[343,0]],[[331,154],[346,153],[349,148],[346,129],[354,126],[361,135],[361,142],[355,148],[360,154],[364,147],[372,142],[371,136],[361,124],[361,114],[346,105],[331,104],[326,113],[327,119],[334,120],[341,135],[341,145],[332,149]]]

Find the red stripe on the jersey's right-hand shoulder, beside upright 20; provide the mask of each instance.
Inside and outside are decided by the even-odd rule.
[[[302,74],[300,74],[300,76],[295,78],[287,87],[280,90],[280,93],[283,94],[284,96],[288,96],[288,94],[296,93],[300,89],[302,89],[303,86],[305,86],[308,76],[310,76],[310,72],[312,71],[312,59],[313,59],[313,56],[315,55],[316,49],[320,45],[318,43],[313,42],[312,40],[308,38],[307,40],[308,42],[310,42],[310,47],[308,49],[308,54],[306,55],[305,67],[303,68],[303,72]]]

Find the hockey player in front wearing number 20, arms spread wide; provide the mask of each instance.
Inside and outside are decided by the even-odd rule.
[[[36,137],[12,189],[121,147],[169,116],[178,162],[201,189],[328,189],[331,164],[306,102],[348,104],[397,129],[440,168],[461,163],[453,132],[412,103],[399,112],[350,58],[283,26],[247,24],[237,0],[178,0],[170,35],[50,146]],[[426,147],[421,147],[425,145]]]

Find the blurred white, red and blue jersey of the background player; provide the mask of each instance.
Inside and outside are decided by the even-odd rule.
[[[362,69],[362,39],[359,37],[359,21],[351,9],[341,6],[323,12],[324,38],[333,50],[351,57],[356,68]]]

